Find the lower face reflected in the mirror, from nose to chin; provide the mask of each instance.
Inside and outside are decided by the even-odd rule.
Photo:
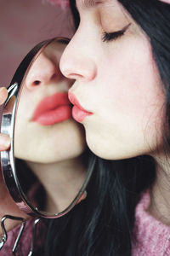
[[[68,90],[72,81],[59,71],[65,44],[54,41],[32,63],[16,115],[14,155],[21,160],[54,163],[82,154],[82,125],[71,118]]]

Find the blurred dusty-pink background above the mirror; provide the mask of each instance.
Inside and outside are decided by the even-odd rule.
[[[37,43],[71,38],[69,9],[48,0],[0,0],[0,87],[8,86],[20,61]]]

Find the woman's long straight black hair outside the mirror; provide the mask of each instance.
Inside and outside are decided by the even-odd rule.
[[[150,38],[165,88],[169,120],[170,6],[158,0],[118,1]],[[75,0],[70,3],[77,28],[80,20]],[[165,136],[166,142],[168,145]],[[134,210],[141,192],[155,178],[155,160],[150,156],[114,161],[98,158],[87,199],[49,224],[45,255],[130,256]]]

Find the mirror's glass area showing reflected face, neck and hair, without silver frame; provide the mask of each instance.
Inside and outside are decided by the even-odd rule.
[[[47,215],[65,211],[87,182],[82,125],[71,118],[68,90],[74,81],[59,71],[65,40],[54,39],[31,61],[20,85],[14,125],[19,190],[28,205]]]

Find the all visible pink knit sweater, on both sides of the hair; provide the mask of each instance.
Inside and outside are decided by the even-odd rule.
[[[142,195],[135,211],[135,224],[133,230],[132,256],[170,256],[170,227],[153,218],[145,210],[150,204],[150,192],[147,190]],[[26,230],[20,240],[18,255],[25,256],[30,251],[33,220],[26,222]],[[20,226],[8,232],[8,241],[0,252],[1,256],[12,255],[11,249],[20,230]],[[46,228],[43,224],[37,230],[36,247],[41,247],[44,242]],[[72,256],[72,255],[71,255]]]

